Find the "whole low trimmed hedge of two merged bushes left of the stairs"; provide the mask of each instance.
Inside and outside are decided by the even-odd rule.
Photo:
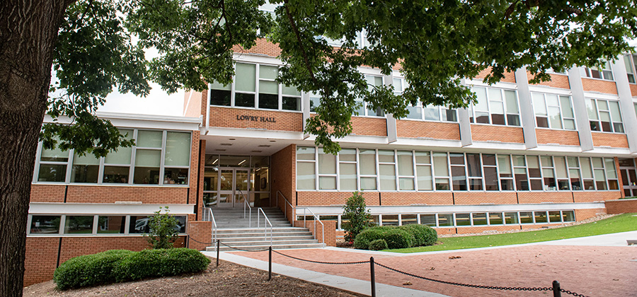
[[[210,259],[197,250],[108,250],[94,255],[74,257],[55,269],[53,281],[62,290],[132,281],[146,277],[173,276],[200,272]]]

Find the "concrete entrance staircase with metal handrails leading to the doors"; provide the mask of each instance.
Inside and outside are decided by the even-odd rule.
[[[217,222],[217,237],[221,241],[219,251],[227,252],[234,249],[226,247],[230,245],[241,250],[263,250],[270,247],[270,225],[263,229],[263,214],[260,214],[259,226],[257,226],[257,208],[252,209],[252,218],[243,217],[241,209],[212,209],[214,221]],[[315,240],[308,228],[292,227],[285,219],[280,209],[264,207],[263,212],[272,223],[272,249],[282,250],[289,248],[323,248],[325,245]],[[251,227],[248,223],[251,222]],[[216,243],[206,248],[207,251],[216,251]]]

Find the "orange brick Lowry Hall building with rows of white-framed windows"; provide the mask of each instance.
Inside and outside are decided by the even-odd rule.
[[[485,72],[464,81],[478,95],[466,109],[414,106],[395,119],[363,106],[333,156],[303,132],[318,98],[275,81],[278,54],[265,40],[235,54],[234,82],[186,93],[184,117],[102,113],[132,148],[93,158],[40,147],[25,285],[76,255],[146,248],[147,216],[166,205],[180,220],[178,245],[203,249],[204,209],[246,202],[295,219],[309,209],[333,237],[357,190],[376,223],[441,234],[581,221],[637,196],[637,55],[537,85],[518,69],[488,86]],[[360,71],[396,92],[406,83],[397,70]]]

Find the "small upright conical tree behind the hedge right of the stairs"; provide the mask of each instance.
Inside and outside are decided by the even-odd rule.
[[[348,198],[348,202],[343,206],[343,218],[348,220],[343,223],[347,242],[354,241],[358,233],[372,225],[372,214],[365,205],[362,192],[354,192],[352,197]]]

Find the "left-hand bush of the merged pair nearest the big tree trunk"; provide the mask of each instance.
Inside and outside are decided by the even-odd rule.
[[[107,250],[71,258],[55,269],[53,281],[62,290],[112,283],[115,281],[113,267],[133,253],[130,250]]]

